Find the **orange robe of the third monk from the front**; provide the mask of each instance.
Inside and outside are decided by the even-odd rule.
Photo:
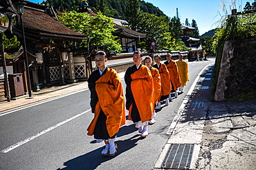
[[[161,76],[155,67],[150,67],[154,83],[154,103],[157,104],[158,98],[161,94]]]

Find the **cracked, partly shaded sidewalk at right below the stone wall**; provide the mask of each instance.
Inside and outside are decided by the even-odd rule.
[[[256,101],[212,102],[209,70],[212,67],[201,74],[154,169],[255,169]],[[171,146],[184,144],[194,147],[187,167],[170,151]],[[177,149],[175,156],[179,154]],[[174,157],[172,164],[167,155]]]

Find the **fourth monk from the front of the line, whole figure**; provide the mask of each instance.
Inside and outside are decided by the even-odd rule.
[[[158,69],[159,74],[161,76],[161,95],[158,98],[158,105],[156,109],[161,109],[161,100],[165,100],[165,105],[169,105],[168,97],[172,90],[172,86],[170,83],[170,74],[167,70],[167,67],[164,63],[160,63],[161,56],[155,56],[156,64],[153,65],[156,69]]]

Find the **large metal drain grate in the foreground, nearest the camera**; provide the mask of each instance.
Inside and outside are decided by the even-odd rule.
[[[194,144],[172,144],[163,160],[163,169],[188,169]]]

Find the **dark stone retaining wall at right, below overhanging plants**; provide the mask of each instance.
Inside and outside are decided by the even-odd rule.
[[[256,40],[226,41],[223,47],[215,100],[256,90]]]

